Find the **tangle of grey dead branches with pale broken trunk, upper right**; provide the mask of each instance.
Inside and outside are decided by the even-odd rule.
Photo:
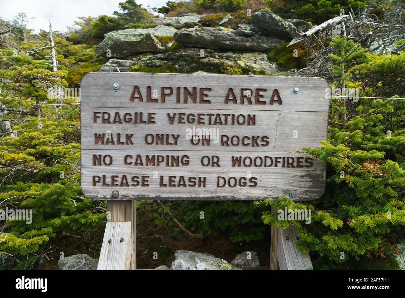
[[[345,34],[362,47],[375,53],[399,53],[405,49],[405,3],[393,0],[390,6],[383,1],[373,1],[354,12],[351,7],[347,15],[337,16],[296,37],[290,46],[299,43],[306,49],[307,67],[290,71],[296,76],[318,76],[335,81],[328,68],[328,55],[332,53],[328,45],[334,34]],[[379,14],[376,15],[377,8]]]

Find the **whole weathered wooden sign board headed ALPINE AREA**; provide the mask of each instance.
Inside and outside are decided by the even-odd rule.
[[[327,135],[317,77],[86,74],[81,187],[90,199],[319,198]]]

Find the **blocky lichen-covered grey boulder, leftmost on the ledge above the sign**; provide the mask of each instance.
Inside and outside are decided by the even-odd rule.
[[[122,58],[137,53],[163,51],[162,45],[151,33],[133,34],[127,30],[138,29],[126,29],[108,33],[96,47],[96,55],[106,57],[107,51],[110,50],[111,57]]]

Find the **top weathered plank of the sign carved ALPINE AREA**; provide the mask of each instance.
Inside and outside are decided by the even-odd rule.
[[[113,83],[119,83],[119,89],[113,89]],[[257,75],[200,75],[200,74],[179,74],[179,73],[110,73],[93,72],[84,75],[81,80],[81,107],[135,107],[135,108],[204,108],[204,109],[253,109],[273,111],[321,111],[329,109],[329,86],[326,81],[319,77],[277,77]],[[134,86],[139,89],[144,97],[143,102],[130,102],[130,95]],[[157,90],[157,98],[160,98],[161,87],[192,87],[211,88],[209,97],[210,105],[199,103],[177,104],[175,95],[166,98],[166,103],[146,103],[146,87]],[[292,89],[298,87],[298,94]],[[264,88],[263,100],[266,105],[224,105],[224,99],[229,88],[240,95],[237,90],[250,88]],[[279,91],[282,105],[269,105],[274,89]],[[153,94],[153,92],[152,92]],[[252,96],[254,97],[254,96]],[[183,98],[181,97],[181,102]],[[239,102],[239,101],[238,101]]]

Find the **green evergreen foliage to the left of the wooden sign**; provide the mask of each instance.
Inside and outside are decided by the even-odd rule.
[[[32,222],[1,223],[6,268],[32,268],[50,238],[73,230],[83,234],[105,220],[105,203],[81,193],[77,98],[48,96],[49,88],[66,86],[66,69],[51,71],[49,43],[31,40],[41,38],[15,38],[15,47],[23,49],[18,54],[0,49],[0,120],[9,121],[13,131],[0,136],[0,209],[32,210]]]

